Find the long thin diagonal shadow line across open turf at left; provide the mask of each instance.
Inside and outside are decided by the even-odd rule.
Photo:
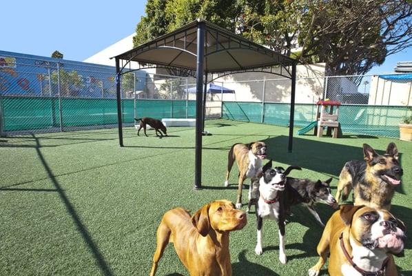
[[[81,236],[83,237],[85,244],[87,244],[87,246],[90,248],[90,252],[92,253],[94,259],[96,260],[96,264],[101,269],[101,272],[103,273],[103,275],[112,276],[113,273],[112,273],[112,270],[110,269],[110,266],[105,261],[105,258],[100,252],[99,248],[93,242],[92,236],[90,235],[89,231],[87,230],[87,228],[81,221],[79,215],[77,215],[76,210],[74,209],[74,206],[68,199],[68,196],[65,195],[65,192],[61,188],[59,181],[57,181],[56,177],[54,177],[53,172],[50,166],[48,165],[47,161],[45,161],[45,158],[43,157],[43,154],[40,151],[41,146],[39,143],[39,139],[35,137],[34,135],[32,135],[32,137],[34,138],[34,141],[36,141],[36,145],[37,145],[36,151],[37,151],[37,155],[39,155],[41,164],[43,164],[45,171],[48,173],[48,176],[50,177],[50,181],[52,181],[54,188],[56,188],[56,192],[59,194],[59,197],[63,201],[63,204],[65,205],[66,210],[68,210],[70,217],[72,217],[74,224],[76,224],[76,228],[81,233]]]

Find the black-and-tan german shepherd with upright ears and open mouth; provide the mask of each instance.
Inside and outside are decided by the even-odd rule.
[[[390,210],[395,187],[399,186],[403,170],[400,168],[398,148],[389,143],[384,155],[363,144],[365,161],[352,160],[344,164],[339,176],[336,200],[346,200],[353,188],[353,204]]]

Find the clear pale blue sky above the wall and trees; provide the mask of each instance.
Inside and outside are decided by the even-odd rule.
[[[145,14],[146,0],[2,1],[0,50],[83,61],[132,34]],[[58,4],[56,4],[58,3]],[[412,61],[412,48],[387,57],[371,74],[392,72]]]

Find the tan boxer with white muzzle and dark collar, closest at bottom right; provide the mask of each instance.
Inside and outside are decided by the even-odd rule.
[[[404,230],[387,210],[342,205],[327,222],[309,276],[319,275],[329,254],[329,275],[398,275],[393,255],[404,249]]]

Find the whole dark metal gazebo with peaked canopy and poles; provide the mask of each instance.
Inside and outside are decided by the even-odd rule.
[[[201,188],[203,85],[207,78],[242,72],[266,72],[291,79],[291,109],[288,152],[292,150],[295,106],[296,65],[298,61],[229,32],[213,23],[197,19],[181,28],[114,57],[119,144],[123,146],[121,75],[147,68],[165,68],[196,77],[196,147],[194,188]],[[138,62],[132,69],[130,63]]]

